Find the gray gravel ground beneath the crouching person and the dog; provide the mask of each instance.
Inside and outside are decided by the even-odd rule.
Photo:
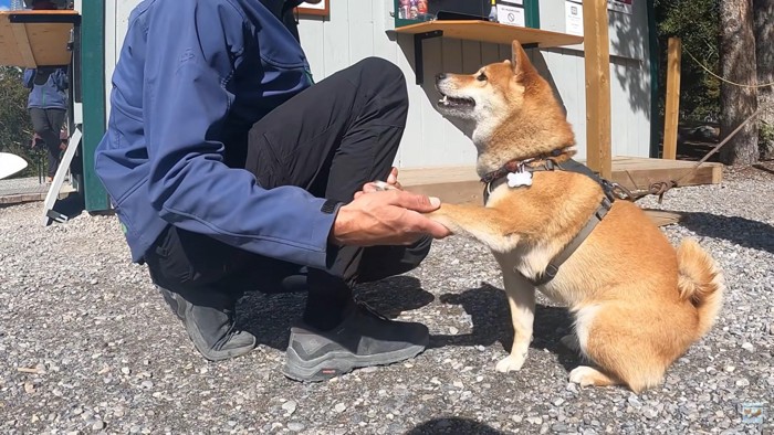
[[[567,383],[578,360],[557,339],[569,320],[544,298],[526,364],[496,373],[513,333],[508,304],[490,254],[463,238],[358,290],[393,317],[426,322],[430,349],[300,384],[279,368],[303,294],[245,297],[240,321],[261,346],[208,363],[128,263],[114,216],[42,227],[41,203],[0,209],[0,433],[774,434],[772,173],[730,170],[721,185],[641,201],[686,212],[665,232],[698,237],[729,291],[711,333],[639,395]],[[742,421],[745,403],[763,404],[763,424]]]

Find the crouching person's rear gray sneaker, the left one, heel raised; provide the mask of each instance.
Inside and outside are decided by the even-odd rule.
[[[158,287],[158,286],[156,286]],[[221,361],[241,357],[255,348],[255,337],[234,329],[233,309],[224,307],[217,295],[206,295],[207,301],[192,304],[177,293],[158,287],[161,296],[182,321],[188,337],[202,357]]]

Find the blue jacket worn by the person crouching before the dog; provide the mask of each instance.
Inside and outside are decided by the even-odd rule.
[[[271,12],[282,3],[145,0],[130,14],[95,169],[133,261],[172,224],[325,265],[335,217],[321,211],[325,200],[295,187],[263,189],[238,168],[251,126],[312,84],[299,41]],[[229,165],[230,156],[242,161]]]

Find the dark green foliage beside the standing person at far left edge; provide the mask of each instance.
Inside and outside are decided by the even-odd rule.
[[[27,112],[29,91],[21,82],[22,70],[0,66],[0,151],[23,157],[30,165],[20,176],[30,176],[41,158],[30,149],[32,124]]]

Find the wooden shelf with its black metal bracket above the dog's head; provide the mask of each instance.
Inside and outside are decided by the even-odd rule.
[[[583,42],[583,36],[547,30],[506,25],[480,20],[433,20],[396,28],[397,33],[414,35],[414,66],[417,84],[421,85],[425,75],[422,41],[430,38],[454,38],[466,41],[510,44],[517,40],[525,49],[574,45]]]

